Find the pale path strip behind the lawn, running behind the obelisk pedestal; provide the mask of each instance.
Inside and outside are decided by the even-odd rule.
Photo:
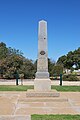
[[[54,80],[51,81],[51,85],[59,85],[60,81],[59,80]],[[74,82],[69,82],[69,81],[63,81],[63,85],[75,85],[75,86],[80,86],[80,81],[74,81]],[[0,80],[0,85],[16,85],[15,80]],[[21,81],[19,79],[19,85],[21,85]],[[33,80],[23,80],[23,85],[34,85]]]

